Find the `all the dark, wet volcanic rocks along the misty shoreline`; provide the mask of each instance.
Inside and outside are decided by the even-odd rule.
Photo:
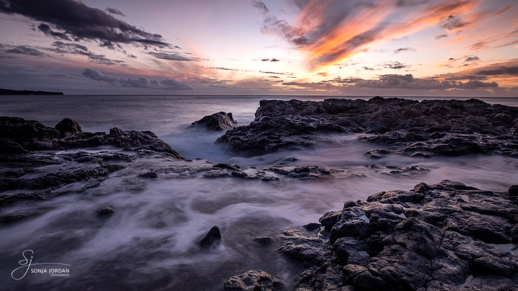
[[[208,115],[193,125],[235,126],[232,114],[223,113]],[[314,147],[328,133],[362,133],[359,140],[381,147],[366,153],[372,158],[392,153],[518,156],[518,108],[476,99],[262,100],[255,117],[250,125],[228,130],[217,142],[234,151],[265,153]],[[84,150],[98,147],[117,149]],[[153,165],[156,157],[169,163]],[[312,165],[256,168],[191,161],[149,131],[112,128],[109,133],[86,133],[70,119],[47,127],[37,121],[0,117],[0,208],[67,194],[64,186],[69,184],[78,185],[76,193],[100,187],[110,174],[131,168],[137,161],[140,173],[126,180],[125,191],[139,192],[161,175],[271,183],[348,174]],[[429,171],[418,165],[376,164],[366,170],[395,177]],[[114,212],[104,207],[97,214],[109,217]],[[33,215],[38,213],[0,215],[0,226]],[[214,226],[200,237],[198,246],[210,251],[213,244],[224,243],[224,236]],[[280,241],[278,251],[304,266],[295,278],[297,291],[518,290],[518,185],[507,192],[491,192],[448,180],[420,183],[410,191],[346,201],[342,210],[325,213],[319,223],[254,240],[261,244]],[[283,284],[262,270],[250,270],[230,278],[223,290],[286,290],[286,285],[292,284]]]

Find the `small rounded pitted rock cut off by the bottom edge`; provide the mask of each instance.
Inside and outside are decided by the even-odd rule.
[[[250,270],[236,275],[223,285],[223,291],[285,291],[284,284],[261,270]]]

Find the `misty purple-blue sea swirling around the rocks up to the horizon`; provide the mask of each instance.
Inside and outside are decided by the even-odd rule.
[[[145,181],[145,188],[134,192],[127,190],[125,184],[142,169],[186,163],[137,159],[132,168],[112,173],[101,187],[78,192],[82,185],[70,184],[66,186],[70,191],[67,195],[1,207],[0,214],[38,215],[0,225],[0,271],[6,282],[0,285],[7,284],[6,289],[14,290],[45,286],[48,290],[216,291],[233,275],[260,269],[290,286],[300,268],[298,263],[276,251],[279,240],[263,245],[253,241],[254,237],[276,237],[283,229],[300,228],[318,222],[327,211],[341,210],[344,201],[365,200],[381,191],[410,190],[420,182],[453,180],[490,191],[506,191],[517,182],[518,159],[502,155],[389,155],[373,160],[364,153],[378,149],[376,144],[359,142],[358,135],[332,134],[316,148],[250,156],[214,144],[222,132],[186,129],[192,122],[219,111],[232,112],[240,125],[249,124],[261,99],[326,98],[329,97],[0,96],[1,116],[37,120],[52,127],[63,118],[70,118],[85,132],[108,132],[112,127],[151,130],[188,159],[241,167],[314,165],[336,169],[329,178],[281,177],[269,182],[160,176]],[[518,98],[479,99],[518,106]],[[419,166],[427,170],[392,175],[386,166]],[[106,205],[117,212],[109,219],[99,220],[95,210]],[[223,243],[208,251],[195,248],[196,241],[213,225],[221,228]],[[23,282],[7,281],[9,273],[23,259],[21,252],[28,249],[40,258],[71,265],[69,277],[33,274]]]

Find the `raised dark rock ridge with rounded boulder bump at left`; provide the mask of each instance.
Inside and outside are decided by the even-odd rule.
[[[4,154],[114,146],[142,153],[166,153],[171,157],[183,159],[169,144],[152,132],[112,128],[109,134],[85,133],[77,122],[68,118],[52,128],[37,121],[0,117],[0,144]]]

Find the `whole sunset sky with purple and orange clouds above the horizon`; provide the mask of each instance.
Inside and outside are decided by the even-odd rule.
[[[0,0],[0,88],[518,97],[518,2]]]

